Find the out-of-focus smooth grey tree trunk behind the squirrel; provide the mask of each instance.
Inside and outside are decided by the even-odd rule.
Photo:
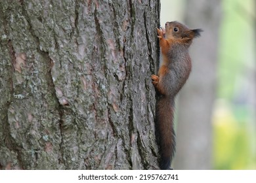
[[[211,169],[211,116],[215,99],[221,1],[186,1],[186,25],[202,28],[190,48],[192,73],[179,95],[175,169]]]

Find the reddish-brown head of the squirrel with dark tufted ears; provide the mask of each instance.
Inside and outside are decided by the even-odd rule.
[[[177,21],[165,23],[165,37],[167,39],[191,42],[193,38],[200,37],[202,31],[202,29],[189,29]]]

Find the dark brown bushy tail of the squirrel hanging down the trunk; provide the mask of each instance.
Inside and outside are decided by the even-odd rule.
[[[162,170],[170,169],[175,153],[175,131],[173,127],[174,99],[161,96],[156,103],[156,135],[160,145]]]

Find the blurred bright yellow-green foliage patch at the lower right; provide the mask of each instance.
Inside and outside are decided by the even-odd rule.
[[[236,114],[238,109],[231,110],[225,106],[217,110],[213,123],[214,169],[253,169],[252,135],[248,131],[244,112]],[[241,112],[242,111],[242,112]]]

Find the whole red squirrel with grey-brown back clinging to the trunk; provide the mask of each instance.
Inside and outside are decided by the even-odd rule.
[[[160,146],[160,169],[170,169],[175,153],[173,127],[175,96],[185,84],[191,71],[188,48],[200,37],[202,29],[189,29],[174,21],[166,22],[165,30],[157,29],[161,48],[158,76],[152,75],[152,84],[158,94],[156,101],[156,135]]]

